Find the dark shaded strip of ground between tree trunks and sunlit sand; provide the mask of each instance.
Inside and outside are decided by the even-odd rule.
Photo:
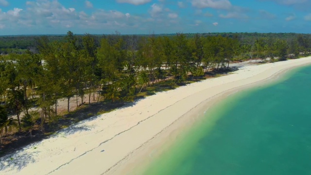
[[[29,134],[25,132],[16,133],[13,136],[6,136],[3,138],[4,142],[9,140],[10,143],[2,145],[2,147],[0,147],[0,171],[4,168],[6,169],[8,166],[7,164],[9,164],[9,168],[14,167],[17,169],[21,169],[27,166],[27,164],[34,162],[35,159],[32,157],[32,155],[25,153],[23,150],[29,147],[35,147],[35,144],[38,144],[38,142],[41,140],[54,138],[59,133],[64,133],[64,136],[66,137],[68,135],[72,135],[82,131],[91,130],[92,127],[84,126],[84,123],[98,119],[101,114],[113,111],[115,109],[122,109],[134,106],[140,100],[146,98],[147,96],[155,95],[158,92],[172,90],[193,82],[200,82],[202,80],[205,80],[206,78],[217,77],[218,75],[222,76],[230,72],[243,69],[243,67],[244,66],[241,65],[217,71],[209,71],[205,74],[205,78],[191,79],[191,77],[189,77],[189,80],[183,83],[173,84],[170,83],[173,82],[170,80],[165,82],[157,82],[153,86],[142,89],[141,93],[135,96],[134,102],[112,103],[109,101],[103,101],[99,103],[81,105],[81,107],[77,110],[70,112],[64,116],[58,117],[57,121],[45,123],[44,132],[41,132],[39,128],[33,130],[33,137],[31,139]]]

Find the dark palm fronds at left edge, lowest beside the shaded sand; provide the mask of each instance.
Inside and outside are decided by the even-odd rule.
[[[13,118],[8,118],[8,113],[3,106],[0,106],[0,144],[3,133],[8,132],[8,128],[11,126],[17,127],[17,120]]]

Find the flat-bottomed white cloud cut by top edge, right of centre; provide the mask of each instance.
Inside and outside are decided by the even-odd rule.
[[[192,6],[197,8],[230,9],[232,4],[229,0],[192,0]]]

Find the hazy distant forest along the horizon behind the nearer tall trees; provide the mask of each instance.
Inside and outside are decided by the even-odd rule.
[[[118,32],[116,34],[120,35]],[[158,34],[155,36],[168,36],[173,37],[176,34]],[[187,38],[193,38],[197,34],[184,34]],[[223,36],[229,38],[237,38],[239,42],[244,44],[254,44],[256,40],[267,40],[268,38],[286,40],[288,45],[298,44],[300,46],[310,42],[311,34],[296,34],[296,33],[204,33],[199,34],[202,37],[207,36]],[[36,40],[39,37],[46,36],[50,42],[58,41],[65,42],[66,35],[6,35],[0,36],[0,54],[8,53],[25,53],[26,50],[35,51]],[[80,40],[83,35],[76,35]],[[93,35],[95,42],[100,43],[100,40],[109,35]],[[143,38],[148,35],[121,35],[126,42],[132,36]],[[308,43],[310,45],[310,43]]]

